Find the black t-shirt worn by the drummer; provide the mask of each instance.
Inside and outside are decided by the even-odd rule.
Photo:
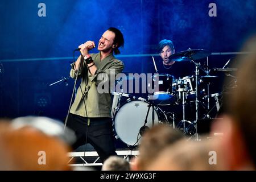
[[[193,67],[195,67],[195,65],[189,61],[176,61],[171,66],[163,65],[162,60],[156,61],[156,68],[158,69],[159,74],[167,73],[174,76],[176,79],[195,75],[195,68]],[[155,69],[152,70],[152,73],[156,73]]]

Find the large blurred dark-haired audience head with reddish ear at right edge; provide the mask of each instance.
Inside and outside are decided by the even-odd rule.
[[[237,65],[233,65],[238,68],[237,88],[228,94],[226,113],[212,129],[224,133],[220,148],[228,169],[234,170],[256,166],[256,36],[246,42],[242,52],[248,53],[237,56]]]

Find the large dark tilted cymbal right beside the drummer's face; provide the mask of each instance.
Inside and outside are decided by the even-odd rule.
[[[210,52],[204,49],[188,49],[187,51],[181,51],[174,53],[169,59],[174,61],[189,61],[199,60],[210,55]]]

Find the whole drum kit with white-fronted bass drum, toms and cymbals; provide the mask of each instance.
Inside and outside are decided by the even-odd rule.
[[[217,76],[210,76],[208,67],[205,70],[198,61],[209,55],[210,52],[203,49],[188,49],[171,55],[169,59],[177,62],[189,60],[193,63],[195,65],[195,75],[183,78],[175,78],[169,74],[153,75],[152,83],[154,86],[158,84],[158,90],[148,94],[147,99],[134,97],[127,93],[112,93],[112,118],[115,138],[120,139],[129,147],[137,146],[140,144],[145,130],[160,123],[167,123],[174,128],[183,130],[184,134],[193,135],[198,139],[199,105],[203,104],[205,106],[205,117],[209,117],[207,112],[210,110],[210,98],[215,98],[216,105],[214,106],[220,109],[218,98],[221,93],[209,94],[209,84]],[[206,76],[200,76],[200,71],[205,72]],[[202,82],[208,86],[207,91],[201,86]],[[189,121],[186,118],[185,106],[188,104],[195,106],[195,121]],[[181,121],[176,121],[175,111],[170,112],[163,109],[163,106],[172,107],[174,105],[182,106]],[[176,126],[175,123],[177,123]]]

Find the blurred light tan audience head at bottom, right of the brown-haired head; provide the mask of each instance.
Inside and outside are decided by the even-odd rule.
[[[213,171],[225,169],[216,147],[208,140],[182,139],[166,147],[146,167],[150,171]]]

